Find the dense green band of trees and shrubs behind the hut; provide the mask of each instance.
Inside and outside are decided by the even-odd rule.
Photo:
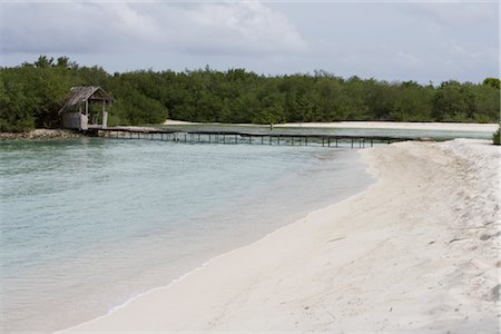
[[[0,130],[57,127],[70,87],[101,86],[115,99],[111,125],[190,121],[394,120],[499,122],[500,80],[387,82],[330,72],[262,76],[244,69],[107,73],[60,57],[0,68]]]

